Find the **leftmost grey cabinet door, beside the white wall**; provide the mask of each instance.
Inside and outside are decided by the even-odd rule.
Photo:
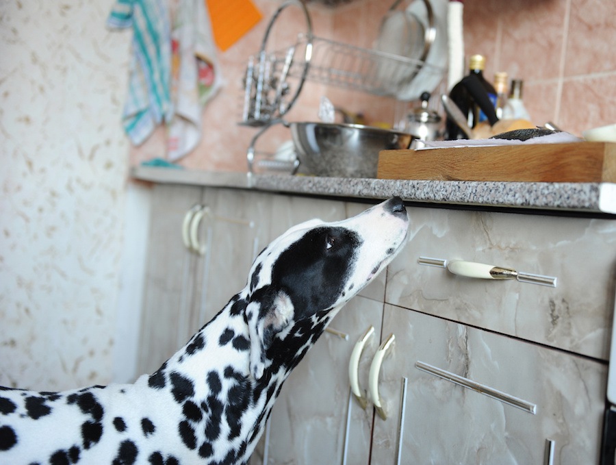
[[[141,316],[138,373],[153,373],[196,329],[190,314],[197,255],[182,240],[182,224],[201,201],[201,188],[159,184],[151,194],[151,224]]]

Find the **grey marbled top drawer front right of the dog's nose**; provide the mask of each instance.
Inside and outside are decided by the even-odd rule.
[[[607,360],[616,221],[408,210],[409,243],[389,267],[387,303]],[[557,284],[461,277],[419,257],[504,266]]]

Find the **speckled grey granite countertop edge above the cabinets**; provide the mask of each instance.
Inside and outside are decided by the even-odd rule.
[[[229,187],[329,197],[385,199],[463,205],[469,208],[521,208],[556,212],[616,214],[616,184],[485,181],[400,181],[278,174],[192,171],[138,166],[135,179],[161,184]]]

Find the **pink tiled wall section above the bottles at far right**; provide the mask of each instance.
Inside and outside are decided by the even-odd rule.
[[[616,123],[616,1],[487,0],[464,4],[467,54],[487,77],[524,79],[533,122],[566,131]]]

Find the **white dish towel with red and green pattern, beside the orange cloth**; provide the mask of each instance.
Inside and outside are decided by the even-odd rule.
[[[203,105],[222,86],[204,0],[180,0],[171,32],[172,101],[175,114],[169,125],[167,156],[177,160],[201,140]]]

